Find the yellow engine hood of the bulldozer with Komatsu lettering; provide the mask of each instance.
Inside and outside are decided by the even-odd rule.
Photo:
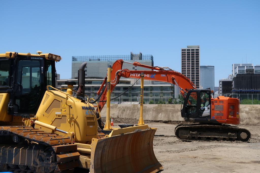
[[[61,91],[46,91],[36,113],[38,121],[50,124],[66,132],[74,132],[75,142],[87,143],[97,137],[97,120],[90,103]],[[62,136],[67,134],[39,126],[35,128]]]

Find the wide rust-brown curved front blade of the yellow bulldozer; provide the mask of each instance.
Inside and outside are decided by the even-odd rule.
[[[132,132],[124,132],[125,134],[92,139],[90,172],[127,173],[162,170],[162,165],[153,151],[156,129],[141,130],[128,127],[131,128],[133,128]]]

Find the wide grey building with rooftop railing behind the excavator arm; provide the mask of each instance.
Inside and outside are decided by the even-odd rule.
[[[83,62],[87,62],[85,68],[85,77],[87,78],[105,78],[107,75],[107,66],[113,65],[118,59],[133,63],[138,61],[141,64],[153,66],[152,55],[134,54],[131,52],[130,55],[109,55],[109,56],[73,56],[72,57],[72,79],[78,77],[78,70]],[[122,69],[129,70],[150,70],[144,67],[133,66],[132,64],[123,63]]]

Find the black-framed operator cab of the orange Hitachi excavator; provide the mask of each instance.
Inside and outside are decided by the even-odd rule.
[[[210,89],[190,89],[184,96],[181,116],[184,118],[209,119],[211,110]]]

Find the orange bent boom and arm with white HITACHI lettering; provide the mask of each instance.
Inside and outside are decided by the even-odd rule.
[[[152,69],[149,71],[136,71],[136,70],[128,70],[128,69],[122,69],[123,63],[129,63],[133,64],[134,66],[140,66],[148,69]],[[119,79],[121,77],[124,78],[135,78],[139,79],[140,74],[144,73],[144,79],[145,80],[152,80],[152,81],[161,81],[161,82],[168,82],[174,85],[177,85],[180,88],[180,93],[184,95],[184,93],[188,89],[196,89],[195,85],[183,74],[173,71],[172,69],[168,67],[152,67],[144,64],[140,64],[138,62],[130,63],[123,60],[116,60],[115,63],[112,66],[112,72],[111,72],[111,92],[114,90],[115,86],[118,84]],[[166,70],[168,69],[168,70]],[[153,71],[156,70],[156,71]],[[106,104],[106,95],[107,90],[103,89],[103,87],[106,85],[107,77],[104,79],[99,91],[97,92],[97,95],[100,95],[102,92],[102,95],[100,96],[100,102],[99,102],[99,111],[101,112],[102,108]],[[96,110],[97,111],[97,110]]]

